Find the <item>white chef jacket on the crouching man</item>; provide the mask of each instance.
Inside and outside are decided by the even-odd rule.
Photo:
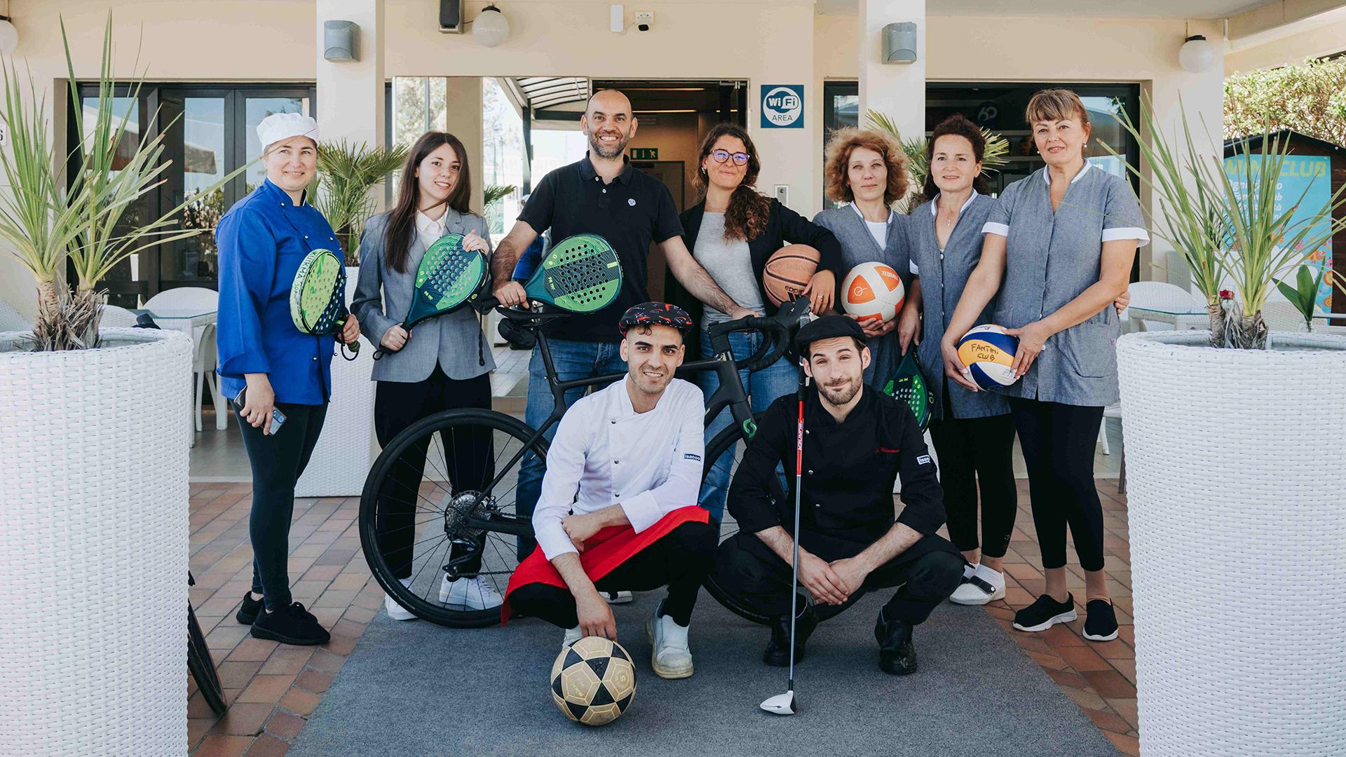
[[[576,552],[561,519],[621,505],[637,533],[665,515],[695,505],[705,454],[705,401],[695,384],[674,378],[649,412],[635,412],[630,377],[565,411],[546,451],[533,531],[548,560]]]

